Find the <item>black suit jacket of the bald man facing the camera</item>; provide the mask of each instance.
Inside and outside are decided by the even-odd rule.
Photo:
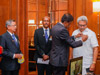
[[[50,36],[51,36],[51,33],[50,33]],[[34,44],[36,48],[36,53],[34,56],[35,60],[37,60],[37,58],[42,58],[43,54],[49,55],[49,52],[51,50],[50,36],[48,38],[48,42],[46,43],[43,28],[35,30],[35,34],[34,34]]]

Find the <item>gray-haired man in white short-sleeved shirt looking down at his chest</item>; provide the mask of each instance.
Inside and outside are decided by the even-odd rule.
[[[73,49],[73,58],[83,56],[82,75],[92,72],[95,69],[96,59],[98,55],[98,41],[96,34],[87,28],[88,19],[86,16],[80,16],[77,19],[79,29],[73,32],[73,36],[77,36],[76,41],[82,39],[80,36],[88,35],[88,39],[83,42],[83,46]]]

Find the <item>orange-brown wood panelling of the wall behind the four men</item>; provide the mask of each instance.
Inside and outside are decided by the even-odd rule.
[[[0,0],[0,35],[6,32],[5,28],[5,21],[8,19],[15,19],[17,22],[17,32],[19,39],[20,39],[20,45],[21,45],[21,51],[25,55],[25,62],[21,65],[20,75],[28,75],[28,19],[39,19],[39,21],[42,19],[44,15],[48,15],[48,4],[42,3],[43,1],[48,2],[48,0],[39,0],[39,3],[42,3],[42,5],[37,6],[35,2],[38,0]],[[96,35],[100,33],[100,30],[98,30],[98,24],[97,24],[97,13],[92,12],[92,0],[63,0],[67,1],[66,5],[64,5],[65,8],[63,10],[65,11],[58,11],[59,6],[62,5],[63,1],[59,0],[59,3],[54,0],[51,2],[51,9],[52,9],[52,23],[56,23],[60,21],[60,18],[62,16],[62,13],[69,12],[74,16],[74,21],[72,22],[71,27],[69,28],[70,34],[77,29],[77,18],[81,15],[86,15],[88,17],[88,28],[93,30]],[[34,5],[33,5],[33,4]],[[38,2],[37,2],[38,3]],[[30,4],[30,5],[29,5]],[[27,7],[29,5],[29,9]],[[44,7],[44,5],[47,6],[47,9]],[[56,6],[57,5],[57,6]],[[33,8],[36,6],[37,8]],[[54,7],[57,8],[54,8]],[[43,7],[43,10],[41,9]],[[42,11],[42,14],[39,12],[36,12],[37,10]],[[33,11],[31,11],[33,9]],[[57,11],[55,12],[55,10]],[[34,12],[35,11],[35,12]],[[30,12],[30,14],[28,14]],[[34,12],[34,14],[31,14],[31,12]],[[38,16],[37,16],[38,14]],[[28,15],[33,15],[31,17],[28,17]],[[41,16],[43,15],[43,16]],[[37,16],[35,18],[34,16]],[[100,17],[99,17],[100,18]],[[39,21],[35,21],[36,24],[39,23]],[[99,21],[100,22],[100,21]],[[100,29],[100,26],[99,26]],[[34,30],[34,29],[33,29]],[[98,38],[98,42],[100,45],[100,36]],[[100,46],[99,46],[100,47]],[[99,48],[99,57],[100,57],[100,48]],[[98,57],[97,64],[96,64],[96,74],[100,74],[100,70],[98,67],[100,67],[100,58]]]

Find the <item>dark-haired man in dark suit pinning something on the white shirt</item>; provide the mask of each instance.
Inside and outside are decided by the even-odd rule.
[[[84,35],[82,40],[74,41],[77,36],[69,36],[67,28],[73,21],[70,14],[64,14],[61,22],[52,28],[52,49],[50,52],[50,64],[53,66],[53,75],[65,75],[68,65],[69,47],[82,46],[82,41],[87,39]]]

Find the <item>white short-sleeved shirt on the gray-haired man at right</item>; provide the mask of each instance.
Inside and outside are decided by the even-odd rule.
[[[73,32],[73,36],[77,35],[80,32],[79,29]],[[88,39],[83,42],[83,46],[73,49],[73,57],[83,56],[83,67],[89,68],[93,62],[93,48],[99,46],[96,38],[95,32],[86,28],[83,32],[84,35],[88,35]],[[75,40],[81,40],[82,38],[76,38]]]

